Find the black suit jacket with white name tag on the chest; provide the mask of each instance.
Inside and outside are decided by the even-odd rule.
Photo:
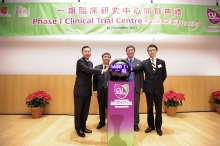
[[[145,93],[151,94],[153,91],[156,94],[164,93],[163,82],[167,77],[165,61],[157,58],[155,73],[153,71],[150,59],[142,61],[141,65],[135,66],[132,71],[144,71],[145,80],[143,91]]]

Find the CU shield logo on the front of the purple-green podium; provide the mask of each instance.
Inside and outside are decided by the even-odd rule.
[[[128,84],[124,84],[124,85],[115,84],[114,92],[119,99],[124,99],[128,95],[129,86]]]

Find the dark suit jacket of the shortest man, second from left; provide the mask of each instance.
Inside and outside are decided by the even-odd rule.
[[[103,64],[99,64],[95,66],[96,69],[103,69]],[[106,72],[108,74],[108,81],[110,80],[110,74],[109,72]],[[101,95],[102,90],[102,83],[103,83],[104,76],[103,74],[94,74],[93,75],[93,91],[98,92],[98,96]]]

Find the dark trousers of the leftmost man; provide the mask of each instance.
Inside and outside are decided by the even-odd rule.
[[[74,95],[74,116],[75,129],[82,130],[86,127],[86,121],[89,114],[91,96],[81,97]]]

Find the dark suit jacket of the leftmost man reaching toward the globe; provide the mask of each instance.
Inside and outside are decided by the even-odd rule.
[[[101,74],[101,69],[92,68],[93,64],[89,63],[82,57],[76,63],[76,80],[74,85],[74,95],[88,97],[92,96],[92,74]]]

